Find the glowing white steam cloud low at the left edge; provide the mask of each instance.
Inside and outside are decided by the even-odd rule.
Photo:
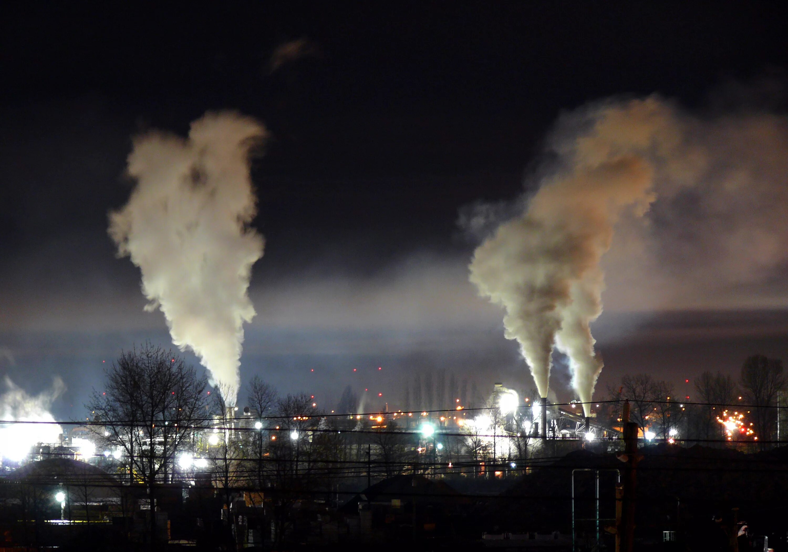
[[[6,392],[0,395],[0,420],[17,423],[0,424],[0,457],[21,461],[39,442],[58,443],[63,430],[55,423],[49,408],[65,391],[63,380],[55,377],[51,389],[35,397],[15,385],[8,376],[5,382]]]

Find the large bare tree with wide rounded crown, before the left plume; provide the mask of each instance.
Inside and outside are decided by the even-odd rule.
[[[103,427],[91,429],[122,450],[129,482],[146,485],[154,539],[155,483],[166,480],[176,453],[191,449],[205,427],[207,382],[177,354],[150,343],[121,352],[105,375],[104,390],[93,390],[86,405]]]

